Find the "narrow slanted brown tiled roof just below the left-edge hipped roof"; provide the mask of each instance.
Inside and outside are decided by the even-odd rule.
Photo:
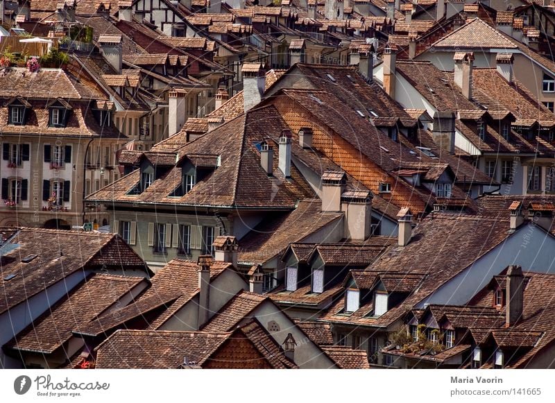
[[[15,350],[51,354],[71,338],[72,330],[86,325],[144,281],[143,277],[92,275],[67,298],[17,334],[8,345]]]

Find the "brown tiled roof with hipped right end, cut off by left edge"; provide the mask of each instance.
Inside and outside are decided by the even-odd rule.
[[[2,273],[15,277],[0,283],[0,313],[83,267],[92,270],[108,262],[108,267],[146,271],[142,259],[115,234],[22,228],[8,244],[19,246],[3,256]],[[37,257],[21,261],[31,255]]]

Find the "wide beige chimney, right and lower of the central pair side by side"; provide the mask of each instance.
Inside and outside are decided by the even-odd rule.
[[[341,195],[345,212],[343,237],[356,241],[368,239],[372,233],[372,194],[367,190],[349,190]]]

